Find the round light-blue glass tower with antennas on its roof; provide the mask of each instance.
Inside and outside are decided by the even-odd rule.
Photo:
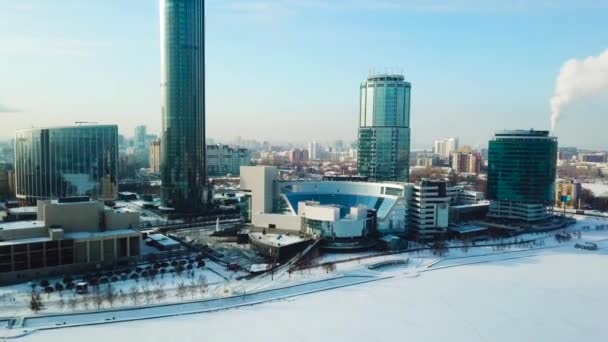
[[[411,85],[401,75],[361,84],[358,171],[377,181],[409,180]]]

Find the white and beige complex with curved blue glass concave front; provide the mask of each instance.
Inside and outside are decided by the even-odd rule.
[[[274,166],[241,168],[254,227],[328,239],[403,233],[411,185],[363,181],[280,181]]]

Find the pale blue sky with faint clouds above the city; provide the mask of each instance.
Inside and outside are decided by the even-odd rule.
[[[561,66],[608,48],[605,0],[208,0],[207,137],[355,140],[371,73],[412,83],[412,148],[549,129]],[[0,0],[0,138],[115,123],[160,133],[157,0]],[[574,101],[561,146],[608,149],[608,91]]]

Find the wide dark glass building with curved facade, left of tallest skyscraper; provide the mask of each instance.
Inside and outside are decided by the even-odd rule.
[[[18,130],[15,134],[17,198],[91,196],[118,193],[118,127],[91,125]]]

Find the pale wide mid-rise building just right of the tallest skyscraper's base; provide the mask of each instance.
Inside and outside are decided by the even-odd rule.
[[[251,151],[227,145],[207,145],[206,165],[210,177],[238,176],[241,166],[251,165]]]

